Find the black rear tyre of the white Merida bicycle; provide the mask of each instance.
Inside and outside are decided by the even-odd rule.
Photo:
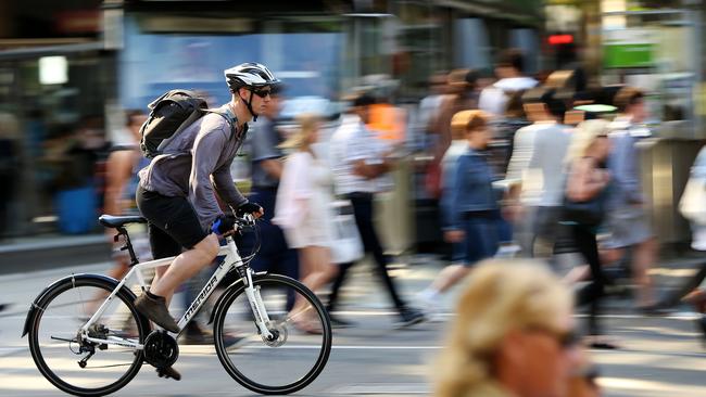
[[[117,286],[117,284],[118,282],[115,281],[114,279],[110,279],[98,274],[70,276],[50,285],[47,290],[42,292],[40,297],[33,305],[33,309],[30,310],[27,318],[28,343],[29,343],[29,351],[31,354],[31,358],[35,361],[35,364],[37,366],[39,372],[41,372],[41,374],[51,384],[53,384],[62,392],[75,396],[104,396],[111,393],[115,393],[116,390],[123,388],[140,371],[140,368],[142,367],[143,363],[142,350],[135,350],[134,353],[135,357],[131,360],[133,362],[129,364],[129,369],[117,381],[94,388],[80,387],[70,382],[66,382],[60,375],[58,375],[55,373],[56,370],[52,369],[48,364],[45,358],[45,354],[42,354],[42,345],[39,341],[40,325],[41,325],[42,317],[46,313],[46,309],[51,306],[52,302],[54,302],[58,297],[62,296],[62,294],[65,294],[78,287],[84,287],[84,286],[96,287],[99,290],[104,290],[105,292],[110,293]],[[135,324],[137,326],[139,343],[143,344],[144,338],[150,332],[150,324],[149,321],[143,316],[138,313],[138,311],[136,310],[134,305],[135,294],[133,294],[127,287],[123,287],[115,295],[115,298],[113,300],[115,299],[119,299],[119,302],[129,309],[128,310],[129,316],[131,320],[135,321]],[[47,322],[50,321],[48,320]],[[80,325],[77,325],[76,332],[78,332],[79,328]],[[71,349],[71,342],[68,344],[68,348]],[[49,348],[47,348],[46,350],[48,349]],[[75,351],[72,353],[75,354]]]

